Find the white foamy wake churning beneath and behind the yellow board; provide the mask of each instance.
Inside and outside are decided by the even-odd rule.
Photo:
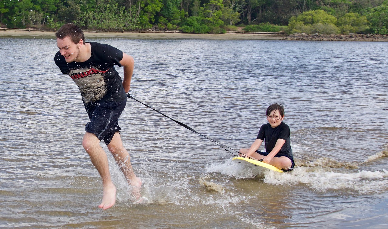
[[[222,163],[208,165],[208,172],[241,178],[264,176],[263,182],[272,185],[304,184],[316,191],[343,190],[349,193],[381,193],[388,189],[388,171],[340,171],[321,167],[295,167],[292,172],[277,173],[271,170],[255,170],[256,167],[244,166],[227,159]]]

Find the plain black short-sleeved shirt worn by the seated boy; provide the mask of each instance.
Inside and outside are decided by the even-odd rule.
[[[286,142],[282,145],[277,155],[288,155],[292,157],[290,128],[286,123],[281,122],[275,128],[272,128],[269,123],[262,125],[256,139],[265,141],[265,151],[270,153],[279,138],[286,140]]]

